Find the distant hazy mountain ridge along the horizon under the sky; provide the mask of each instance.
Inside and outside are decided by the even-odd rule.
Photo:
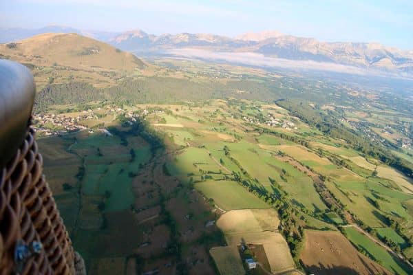
[[[385,72],[413,74],[413,50],[403,51],[378,43],[328,43],[316,39],[281,34],[275,31],[249,32],[235,38],[215,34],[147,34],[142,30],[123,33],[82,31],[65,27],[47,27],[36,32],[76,32],[105,41],[120,50],[162,53],[179,48],[197,48],[214,52],[254,52],[294,61],[328,62],[379,69]],[[0,42],[31,34],[23,29],[0,29]]]

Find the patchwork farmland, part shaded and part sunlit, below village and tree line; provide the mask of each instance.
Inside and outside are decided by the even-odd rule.
[[[253,274],[411,271],[403,256],[413,235],[405,222],[410,179],[390,166],[317,130],[309,134],[310,126],[276,105],[123,108],[104,125],[89,122],[94,133],[39,140],[89,274],[247,274],[250,258]],[[297,129],[243,119],[270,113]],[[394,243],[403,259],[374,256],[377,248],[346,228],[348,241],[337,229],[349,223]]]

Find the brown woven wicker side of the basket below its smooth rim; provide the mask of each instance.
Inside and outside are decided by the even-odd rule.
[[[42,174],[42,165],[34,131],[29,127],[13,159],[0,170],[1,275],[75,274],[72,243]],[[14,260],[18,241],[39,241],[43,245],[38,254],[25,259],[20,272]]]

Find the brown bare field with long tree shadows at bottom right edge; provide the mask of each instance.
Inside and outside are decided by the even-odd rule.
[[[357,252],[340,232],[306,230],[300,259],[310,274],[392,274]]]

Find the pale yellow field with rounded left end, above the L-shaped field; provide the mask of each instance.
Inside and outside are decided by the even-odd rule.
[[[279,219],[277,212],[272,208],[231,210],[218,219],[217,225],[225,234],[262,232],[277,230]]]

